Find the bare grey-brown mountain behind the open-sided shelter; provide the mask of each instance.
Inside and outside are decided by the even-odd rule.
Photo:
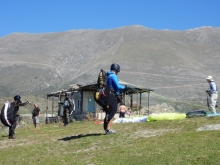
[[[99,70],[121,66],[119,79],[154,89],[157,100],[204,103],[212,75],[220,84],[220,28],[184,31],[143,26],[59,33],[13,33],[0,38],[0,97],[47,93],[96,81]]]

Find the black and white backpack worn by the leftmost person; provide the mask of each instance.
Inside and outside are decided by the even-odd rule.
[[[1,122],[10,127],[15,122],[14,118],[14,105],[8,101],[4,104],[1,110]]]

